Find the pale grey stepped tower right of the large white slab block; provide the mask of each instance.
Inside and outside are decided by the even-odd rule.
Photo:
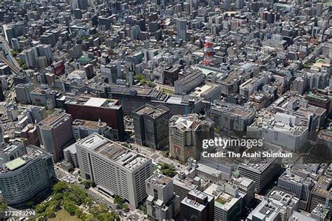
[[[146,181],[146,210],[155,220],[171,220],[179,214],[180,197],[174,194],[173,180],[153,173]]]

